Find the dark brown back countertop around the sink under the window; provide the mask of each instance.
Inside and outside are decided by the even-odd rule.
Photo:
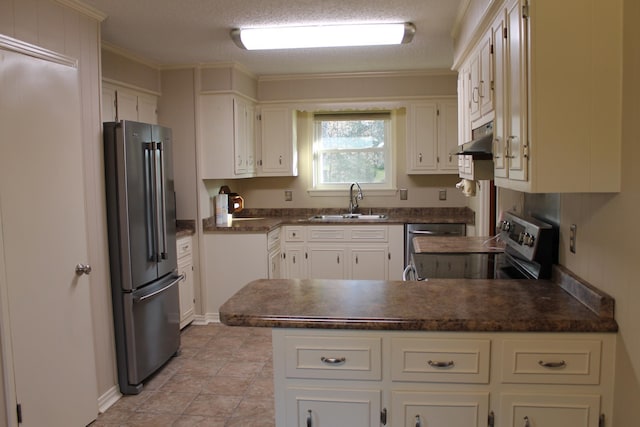
[[[376,214],[387,215],[386,219],[371,220],[310,220],[313,215],[344,213],[344,209],[244,209],[234,215],[230,227],[217,227],[215,217],[203,220],[205,233],[215,232],[269,232],[282,225],[321,225],[321,224],[407,224],[407,223],[440,223],[468,224],[475,223],[475,213],[467,207],[458,208],[371,208]],[[363,209],[368,213],[369,208]]]

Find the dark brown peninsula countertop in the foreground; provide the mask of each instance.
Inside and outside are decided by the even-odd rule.
[[[612,304],[611,304],[612,308]],[[222,323],[271,328],[482,332],[616,332],[547,280],[261,279],[220,307]]]

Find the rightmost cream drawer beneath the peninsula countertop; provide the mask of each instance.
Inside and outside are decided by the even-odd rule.
[[[509,340],[502,348],[502,382],[599,384],[599,340]]]

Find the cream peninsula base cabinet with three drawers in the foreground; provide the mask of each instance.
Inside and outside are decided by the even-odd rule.
[[[276,328],[276,425],[611,426],[615,340]]]

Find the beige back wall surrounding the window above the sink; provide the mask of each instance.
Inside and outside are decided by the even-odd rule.
[[[457,94],[457,75],[450,71],[422,71],[403,73],[354,73],[334,75],[268,76],[258,78],[258,99],[261,103],[288,103],[300,110],[310,111],[317,105],[341,102],[360,106],[402,104],[419,97],[451,98]],[[408,189],[409,198],[401,201],[399,195],[367,195],[361,203],[367,207],[449,207],[467,206],[467,199],[455,189],[457,175],[407,175],[405,144],[405,113],[399,110],[396,129],[396,184]],[[232,191],[241,193],[250,208],[347,207],[344,197],[311,197],[307,192],[311,182],[311,115],[298,114],[298,169],[297,177],[268,177],[242,180],[207,181],[211,196],[220,185],[227,184]],[[292,190],[293,201],[284,200],[284,190]],[[438,192],[447,189],[447,200],[440,201]],[[204,207],[204,206],[203,206]],[[212,213],[211,213],[212,214]],[[204,213],[206,215],[206,212]]]

